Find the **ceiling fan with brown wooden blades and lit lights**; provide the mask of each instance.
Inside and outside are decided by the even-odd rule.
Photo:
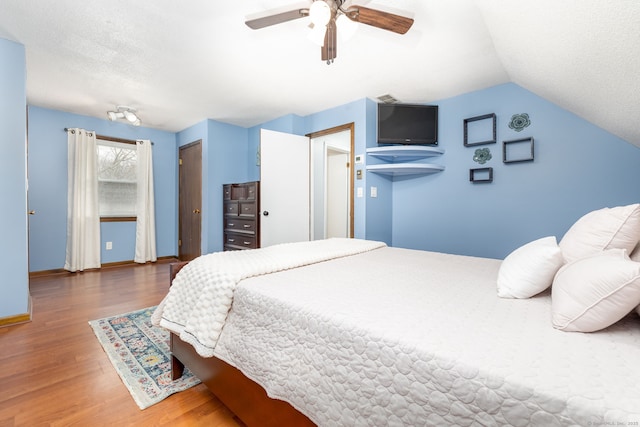
[[[353,22],[360,22],[398,34],[405,34],[413,25],[412,18],[364,6],[347,6],[347,2],[348,0],[313,0],[308,8],[296,8],[261,18],[250,19],[245,24],[249,28],[257,30],[309,16],[311,18],[312,31],[316,33],[316,37],[322,43],[321,58],[327,64],[331,64],[336,58],[337,23],[339,20],[344,19],[342,18],[343,16]]]

